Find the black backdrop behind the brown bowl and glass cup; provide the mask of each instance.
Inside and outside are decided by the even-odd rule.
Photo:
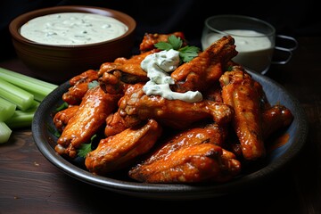
[[[291,37],[321,36],[316,0],[304,1],[211,1],[211,0],[4,0],[0,3],[2,55],[14,53],[8,26],[18,15],[55,5],[102,6],[128,13],[137,22],[136,46],[144,33],[183,31],[190,45],[201,47],[203,22],[212,15],[241,14],[268,21],[276,34]]]

